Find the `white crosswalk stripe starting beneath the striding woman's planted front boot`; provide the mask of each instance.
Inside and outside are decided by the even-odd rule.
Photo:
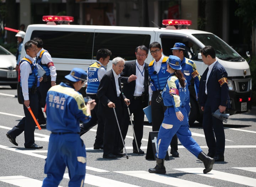
[[[149,173],[147,171],[114,171],[114,172],[122,173],[122,174],[133,176],[133,177],[143,178],[143,179],[149,180],[149,181],[163,183],[166,185],[177,186],[177,187],[185,187],[185,186],[188,186],[188,187],[210,187],[209,185],[203,185],[201,183],[187,181],[187,180],[170,177],[170,176],[166,176],[166,175]],[[159,185],[159,186],[161,186],[161,185]]]

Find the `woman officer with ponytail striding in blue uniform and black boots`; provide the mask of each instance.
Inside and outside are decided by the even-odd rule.
[[[148,170],[150,173],[166,173],[164,158],[171,139],[175,134],[177,134],[181,144],[204,163],[205,169],[203,173],[208,173],[213,168],[214,159],[208,157],[191,137],[187,111],[185,109],[185,104],[189,101],[189,91],[187,81],[180,71],[180,64],[180,58],[173,55],[169,56],[167,71],[170,73],[170,76],[162,92],[164,105],[167,106],[167,109],[158,133],[156,166]]]

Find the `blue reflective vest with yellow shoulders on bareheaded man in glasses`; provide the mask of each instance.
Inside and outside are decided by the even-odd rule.
[[[163,90],[167,81],[168,76],[170,75],[167,70],[166,61],[168,57],[164,57],[162,60],[161,68],[158,73],[154,71],[154,62],[151,61],[148,66],[149,77],[150,77],[150,87],[152,91]]]

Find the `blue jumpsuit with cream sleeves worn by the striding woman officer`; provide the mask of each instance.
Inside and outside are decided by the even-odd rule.
[[[177,134],[181,144],[193,155],[198,157],[199,153],[202,152],[200,146],[191,137],[189,130],[187,111],[185,108],[186,102],[189,99],[189,91],[187,81],[185,82],[186,86],[182,88],[178,78],[174,74],[171,74],[162,92],[164,105],[167,106],[167,109],[157,139],[156,157],[159,159],[165,158],[171,139],[175,134]],[[178,111],[181,111],[183,114],[183,121],[177,119],[176,112]]]

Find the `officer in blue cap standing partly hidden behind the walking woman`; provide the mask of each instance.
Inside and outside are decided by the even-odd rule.
[[[188,89],[190,90],[191,86],[191,79],[194,78],[194,89],[196,91],[196,97],[198,97],[198,90],[199,90],[199,81],[200,81],[200,75],[198,71],[196,70],[196,64],[184,57],[186,46],[183,43],[175,43],[174,47],[171,48],[172,53],[174,56],[181,59],[181,71],[183,75],[185,76],[188,84]],[[196,98],[197,99],[197,98]],[[187,110],[187,116],[189,117],[190,113],[190,97],[188,98],[188,101],[186,103],[186,110]],[[171,141],[171,154],[172,156],[178,156],[178,139],[175,135],[174,138]]]

